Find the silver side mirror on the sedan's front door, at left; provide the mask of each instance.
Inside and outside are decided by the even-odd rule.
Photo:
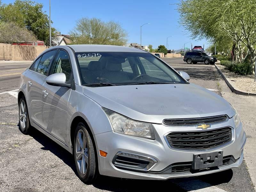
[[[71,88],[71,84],[66,83],[66,75],[64,73],[52,74],[45,79],[45,82],[52,86]]]

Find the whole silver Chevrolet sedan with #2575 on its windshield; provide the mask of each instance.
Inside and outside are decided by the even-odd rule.
[[[236,110],[155,55],[123,46],[54,46],[20,78],[20,130],[38,129],[98,174],[166,180],[238,167]]]

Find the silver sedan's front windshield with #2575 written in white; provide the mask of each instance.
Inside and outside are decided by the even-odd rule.
[[[85,86],[186,83],[150,53],[80,52],[75,56]]]

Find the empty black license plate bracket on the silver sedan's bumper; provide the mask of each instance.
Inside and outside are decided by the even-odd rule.
[[[193,154],[192,169],[204,169],[222,165],[223,151],[212,153]]]

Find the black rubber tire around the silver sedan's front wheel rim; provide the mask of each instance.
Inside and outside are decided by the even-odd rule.
[[[86,145],[84,148],[87,147],[87,153],[86,150],[81,148],[80,143],[76,143],[76,139],[79,135],[82,134],[82,132],[85,135],[85,139],[86,142],[84,142]],[[80,136],[82,138],[82,136]],[[82,139],[84,141],[84,138]],[[80,148],[79,148],[80,147]],[[81,149],[81,150],[78,150]],[[81,164],[80,164],[80,160],[77,160],[76,155],[77,155],[77,151],[84,151],[84,154],[82,154],[82,158],[81,158]],[[85,153],[87,154],[87,163],[86,163],[86,158],[83,156],[85,155]],[[95,181],[95,179],[98,176],[98,165],[97,165],[97,161],[96,161],[96,150],[94,149],[94,145],[93,145],[93,140],[89,134],[89,132],[86,129],[86,126],[84,125],[84,123],[79,123],[76,126],[76,131],[75,131],[75,136],[74,136],[74,146],[73,146],[73,155],[74,155],[74,159],[75,159],[75,164],[76,164],[76,171],[78,174],[78,177],[80,178],[81,181],[83,181],[86,184],[91,184],[93,181]],[[79,154],[79,152],[78,152]],[[79,157],[81,155],[78,155]],[[83,161],[83,157],[84,157],[84,165],[87,164],[85,173],[82,173],[82,161]],[[80,167],[79,167],[80,166]]]

